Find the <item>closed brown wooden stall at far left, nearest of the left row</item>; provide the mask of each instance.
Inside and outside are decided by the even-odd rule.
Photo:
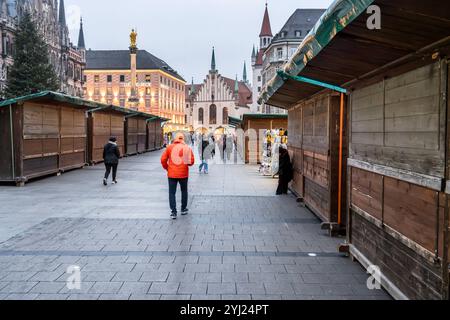
[[[83,167],[85,111],[94,104],[54,92],[0,102],[0,181],[26,181]]]

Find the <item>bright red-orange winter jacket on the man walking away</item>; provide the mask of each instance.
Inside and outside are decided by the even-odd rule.
[[[161,165],[173,179],[189,178],[189,167],[195,163],[192,149],[183,141],[176,140],[167,147],[161,157]]]

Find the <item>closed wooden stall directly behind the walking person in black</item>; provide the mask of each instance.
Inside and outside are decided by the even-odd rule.
[[[103,162],[103,147],[112,136],[117,138],[120,154],[125,154],[125,120],[133,112],[115,106],[102,106],[88,112],[88,160]]]

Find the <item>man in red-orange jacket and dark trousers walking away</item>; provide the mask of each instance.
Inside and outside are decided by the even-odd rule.
[[[173,144],[167,147],[161,157],[161,164],[169,178],[169,202],[173,220],[177,218],[176,193],[178,183],[181,187],[181,215],[187,215],[189,167],[195,163],[192,149],[184,142],[184,135],[177,134]]]

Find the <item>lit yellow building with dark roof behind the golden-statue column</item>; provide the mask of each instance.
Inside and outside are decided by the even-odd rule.
[[[135,44],[130,50],[87,50],[84,77],[85,99],[170,119],[170,131],[185,129],[185,80]]]

